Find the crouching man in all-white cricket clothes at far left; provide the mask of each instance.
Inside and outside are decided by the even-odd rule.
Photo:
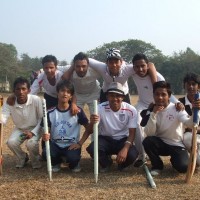
[[[2,110],[2,123],[5,124],[11,116],[15,125],[7,144],[17,158],[16,167],[23,168],[29,158],[20,145],[26,141],[32,167],[37,169],[41,167],[38,141],[41,137],[42,102],[39,97],[28,94],[30,83],[23,77],[14,81],[13,88],[16,96],[15,104],[9,106],[5,103]]]

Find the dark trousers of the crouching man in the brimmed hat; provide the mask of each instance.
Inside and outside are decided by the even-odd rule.
[[[120,150],[124,147],[124,143],[127,140],[127,137],[121,140],[114,140],[111,137],[99,136],[98,137],[98,152],[99,152],[99,164],[102,168],[105,168],[111,164],[110,156],[117,155]],[[87,147],[87,152],[90,156],[94,157],[94,142],[90,143]],[[121,164],[121,168],[125,168],[131,165],[138,157],[138,152],[135,146],[131,146],[126,161]]]

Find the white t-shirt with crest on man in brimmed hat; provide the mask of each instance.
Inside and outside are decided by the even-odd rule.
[[[129,128],[137,128],[137,111],[126,102],[122,102],[117,112],[111,110],[108,101],[103,102],[98,106],[98,111],[99,135],[120,140],[129,136]]]

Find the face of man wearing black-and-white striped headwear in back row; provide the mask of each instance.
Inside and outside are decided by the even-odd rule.
[[[108,65],[109,72],[112,76],[119,75],[119,71],[122,65],[122,61],[120,59],[111,58],[107,60],[107,65]]]

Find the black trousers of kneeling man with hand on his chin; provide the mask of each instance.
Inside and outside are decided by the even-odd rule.
[[[160,156],[171,156],[172,166],[180,173],[187,171],[189,156],[185,148],[164,143],[159,137],[148,136],[143,140],[145,152],[151,160],[152,169],[163,169]]]

